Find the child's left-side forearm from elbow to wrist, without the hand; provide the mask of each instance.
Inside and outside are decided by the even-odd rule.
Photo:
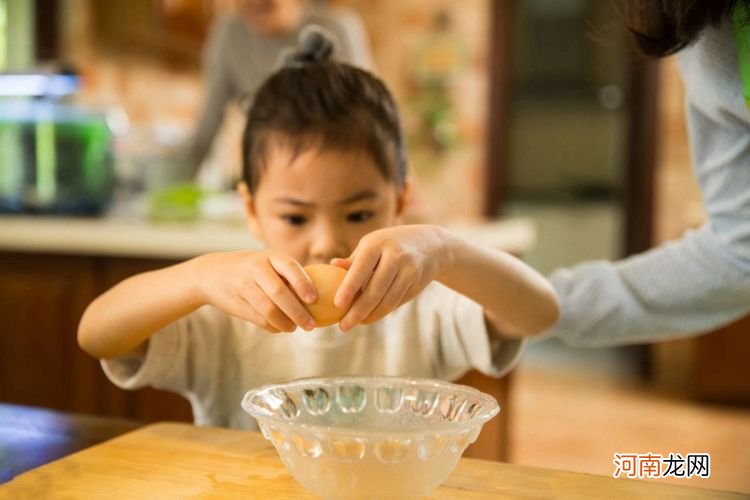
[[[97,358],[137,348],[158,330],[202,305],[193,261],[122,281],[96,298],[78,326],[78,343]]]

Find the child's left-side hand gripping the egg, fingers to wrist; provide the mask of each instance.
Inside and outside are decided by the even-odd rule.
[[[315,326],[300,302],[317,299],[302,266],[272,251],[213,253],[198,257],[195,282],[204,298],[227,314],[273,333]],[[295,295],[296,294],[296,295]]]

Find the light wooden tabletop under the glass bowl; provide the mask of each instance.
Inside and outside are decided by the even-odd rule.
[[[256,432],[160,423],[31,470],[3,498],[315,498]],[[461,459],[430,498],[745,498],[739,494]]]

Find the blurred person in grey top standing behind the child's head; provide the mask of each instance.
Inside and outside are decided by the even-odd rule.
[[[312,0],[238,0],[234,13],[215,21],[204,49],[200,117],[184,151],[190,177],[208,156],[227,104],[246,107],[276,69],[281,52],[295,46],[300,31],[311,24],[333,35],[335,59],[373,68],[364,25],[344,7]]]

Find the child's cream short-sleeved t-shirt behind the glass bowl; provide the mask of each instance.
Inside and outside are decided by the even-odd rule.
[[[240,402],[261,385],[337,375],[455,380],[472,368],[500,377],[523,345],[491,341],[482,307],[433,282],[382,320],[348,333],[331,326],[271,334],[205,306],[152,336],[145,357],[103,360],[102,366],[124,389],[182,394],[197,425],[256,428]]]

